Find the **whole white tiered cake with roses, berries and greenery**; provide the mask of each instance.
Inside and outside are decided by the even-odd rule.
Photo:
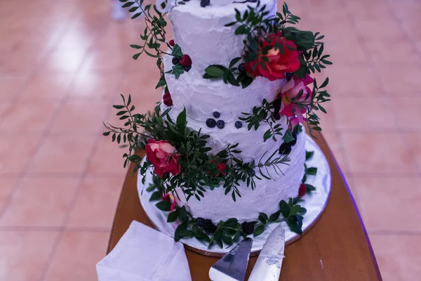
[[[132,47],[140,50],[134,58],[157,58],[161,103],[147,117],[123,98],[114,107],[126,128],[107,126],[105,135],[127,142],[125,164],[154,178],[147,191],[171,211],[168,223],[180,223],[176,240],[222,247],[276,221],[301,233],[299,197],[314,190],[305,178],[316,172],[305,165],[312,153],[302,123],[320,131],[315,112],[326,112],[321,103],[329,100],[328,79],[318,85],[309,76],[331,64],[323,36],[286,26],[300,18],[286,4],[276,13],[275,0],[160,2],[131,11],[146,16],[144,44]],[[147,153],[142,162],[133,155],[138,145]]]

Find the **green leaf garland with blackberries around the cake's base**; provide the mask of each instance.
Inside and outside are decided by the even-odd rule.
[[[306,161],[311,159],[314,152],[306,152]],[[307,167],[305,165],[305,176],[302,178],[302,183],[307,181],[307,176],[315,175],[317,172],[316,167]],[[307,194],[311,194],[316,188],[313,185],[305,183]],[[206,231],[206,228],[198,226],[198,219],[194,218],[192,214],[187,211],[185,206],[178,207],[175,204],[173,211],[171,211],[171,202],[162,200],[165,188],[163,188],[163,179],[152,174],[152,183],[146,189],[147,192],[152,192],[149,201],[156,203],[156,207],[161,211],[168,212],[167,222],[173,223],[178,220],[180,225],[175,230],[174,239],[179,241],[182,238],[195,237],[196,239],[208,244],[208,247],[212,247],[213,244],[217,244],[220,248],[223,244],[227,244],[228,247],[237,242],[240,237],[247,237],[250,233],[246,233],[241,223],[236,218],[229,218],[227,221],[220,221],[217,226],[213,228],[213,233]],[[260,213],[256,221],[248,222],[253,225],[253,236],[256,237],[265,231],[265,227],[270,223],[280,223],[285,221],[288,228],[293,233],[302,235],[302,219],[306,213],[306,209],[301,207],[299,204],[302,199],[299,197],[290,198],[288,203],[284,200],[279,202],[279,210],[270,214],[269,216],[265,213]],[[170,212],[171,211],[171,212]],[[281,216],[282,215],[282,216]],[[203,218],[201,218],[203,219]]]

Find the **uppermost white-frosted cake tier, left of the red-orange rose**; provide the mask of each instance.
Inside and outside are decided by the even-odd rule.
[[[243,51],[242,35],[235,35],[234,27],[225,27],[235,20],[234,9],[243,14],[248,6],[255,7],[257,3],[232,3],[227,0],[215,0],[210,6],[201,7],[199,0],[189,1],[185,5],[175,6],[169,13],[173,24],[174,41],[181,47],[183,53],[189,54],[198,70],[204,70],[209,65],[227,65],[233,58],[241,56]],[[261,6],[266,5],[268,17],[276,13],[275,0],[261,0]],[[226,5],[222,5],[222,4]]]

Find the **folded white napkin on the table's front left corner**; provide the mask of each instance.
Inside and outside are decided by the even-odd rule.
[[[138,221],[96,269],[98,281],[192,280],[182,243]]]

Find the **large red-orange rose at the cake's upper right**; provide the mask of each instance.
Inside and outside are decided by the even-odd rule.
[[[248,74],[253,77],[266,77],[270,81],[274,81],[276,79],[285,78],[286,72],[295,72],[300,68],[300,60],[298,60],[298,51],[296,50],[297,46],[295,46],[293,41],[281,37],[281,34],[281,32],[276,34],[272,33],[269,34],[266,39],[260,41],[258,58],[246,64],[246,71]],[[283,53],[281,53],[281,50],[279,49],[275,50],[276,43],[277,45],[282,44]],[[267,53],[264,53],[263,50],[268,46],[272,48],[270,48]],[[294,50],[290,50],[290,48],[293,48]],[[265,62],[263,58],[267,58],[269,63]],[[255,67],[255,70],[253,70],[253,65],[255,65],[255,63],[258,63],[258,65]],[[262,68],[261,63],[265,65],[265,69]]]

